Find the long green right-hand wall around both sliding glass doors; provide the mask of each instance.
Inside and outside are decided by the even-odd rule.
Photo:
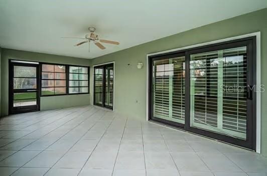
[[[168,28],[166,30],[168,30]],[[209,24],[175,34],[173,36],[94,58],[92,60],[92,65],[115,61],[115,111],[145,120],[147,54],[258,31],[261,32],[261,83],[267,84],[267,76],[264,76],[267,75],[267,69],[265,69],[267,66],[267,9]],[[144,67],[142,69],[137,68],[138,62],[144,63]],[[92,79],[90,83],[92,92]],[[92,101],[93,99],[91,98],[90,100]],[[266,106],[267,94],[262,93],[261,151],[267,156]]]

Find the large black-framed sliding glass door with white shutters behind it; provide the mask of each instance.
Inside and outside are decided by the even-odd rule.
[[[150,58],[150,119],[255,149],[255,38]]]

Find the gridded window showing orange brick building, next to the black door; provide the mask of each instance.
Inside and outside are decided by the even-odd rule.
[[[42,96],[62,95],[66,92],[66,66],[42,64]]]

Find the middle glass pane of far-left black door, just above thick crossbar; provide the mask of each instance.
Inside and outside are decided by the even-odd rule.
[[[14,78],[14,89],[36,89],[36,78]]]

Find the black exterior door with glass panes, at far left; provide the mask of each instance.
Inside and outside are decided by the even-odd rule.
[[[40,110],[39,64],[10,61],[10,114]]]

